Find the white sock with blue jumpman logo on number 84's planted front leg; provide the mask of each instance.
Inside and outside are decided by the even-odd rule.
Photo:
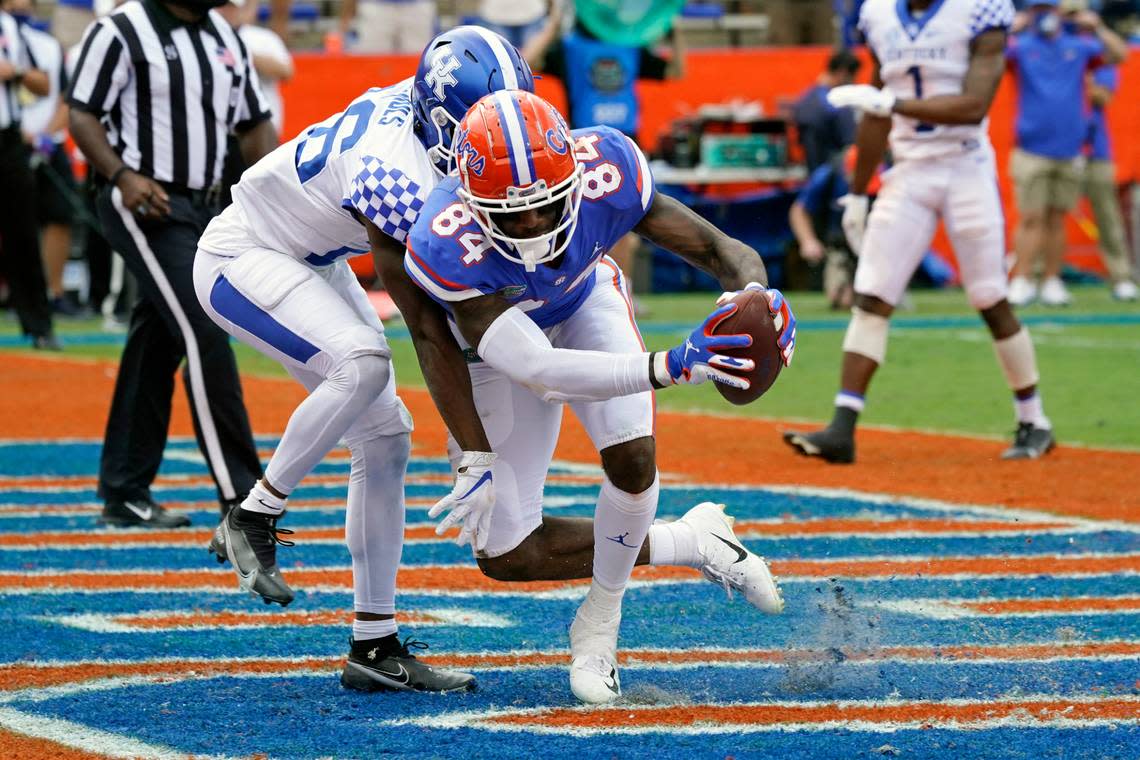
[[[606,589],[624,589],[657,513],[660,479],[641,493],[627,493],[602,480],[594,509],[594,580]]]

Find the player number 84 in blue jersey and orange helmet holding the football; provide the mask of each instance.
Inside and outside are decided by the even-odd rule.
[[[455,157],[458,173],[429,196],[405,267],[454,319],[497,457],[482,475],[494,479],[495,502],[486,505],[494,509],[461,541],[472,540],[491,578],[592,579],[570,627],[570,686],[584,702],[609,702],[620,694],[618,626],[635,564],[699,567],[768,613],[779,613],[783,599],[764,559],[735,539],[722,505],[650,524],[658,501],[653,391],[706,379],[747,387],[739,373],[751,362],[722,352],[751,337],[714,334],[735,304],[718,307],[682,345],[648,352],[625,276],[606,251],[634,230],[714,273],[726,291],[763,292],[785,363],[795,319],[780,293],[765,287],[760,256],[657,195],[645,157],[613,129],[570,132],[542,98],[503,90],[467,112]],[[543,515],[563,403],[601,455],[593,520]],[[439,530],[458,520],[472,523],[465,505]]]

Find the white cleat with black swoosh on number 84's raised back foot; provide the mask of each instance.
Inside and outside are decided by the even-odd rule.
[[[723,587],[730,597],[731,589],[736,589],[760,612],[769,615],[783,612],[783,594],[768,564],[740,544],[732,530],[735,521],[724,513],[723,504],[698,504],[679,522],[697,532],[697,551],[705,578]]]

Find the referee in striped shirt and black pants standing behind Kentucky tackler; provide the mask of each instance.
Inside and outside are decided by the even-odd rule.
[[[139,284],[99,467],[103,521],[181,528],[150,497],[174,371],[225,513],[261,476],[229,340],[194,294],[197,242],[219,212],[227,137],[247,165],[277,144],[245,47],[217,0],[130,0],[88,27],[71,133],[106,180],[104,234]]]

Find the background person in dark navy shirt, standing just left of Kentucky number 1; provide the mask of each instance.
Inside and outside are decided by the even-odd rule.
[[[828,59],[828,68],[792,108],[792,120],[799,132],[807,171],[828,163],[855,141],[855,114],[850,108],[836,108],[828,103],[828,91],[850,84],[860,70],[860,59],[849,50],[839,50]]]

